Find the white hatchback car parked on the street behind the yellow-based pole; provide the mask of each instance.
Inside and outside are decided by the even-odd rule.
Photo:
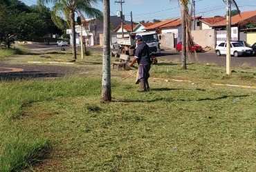
[[[217,56],[226,55],[227,46],[226,41],[221,42],[221,44],[217,45],[215,48],[215,52]],[[244,46],[238,41],[230,41],[230,55],[234,57],[244,56],[244,55],[253,55],[253,49]]]

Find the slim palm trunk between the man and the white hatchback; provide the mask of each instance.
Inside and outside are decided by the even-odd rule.
[[[181,22],[182,22],[182,52],[181,52],[181,68],[187,69],[186,63],[186,23],[185,23],[185,8],[181,5]]]

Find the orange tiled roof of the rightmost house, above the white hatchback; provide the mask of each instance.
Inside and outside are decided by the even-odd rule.
[[[256,16],[256,10],[241,12],[240,15],[235,15],[235,16],[231,17],[232,25],[240,23],[241,21],[249,19],[250,17]],[[226,25],[226,20],[223,20],[223,21],[219,21],[218,23],[214,23],[212,26],[225,26],[225,25]]]

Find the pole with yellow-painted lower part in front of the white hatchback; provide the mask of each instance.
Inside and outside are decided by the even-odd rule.
[[[226,74],[231,75],[231,55],[230,55],[230,38],[231,38],[231,0],[226,1],[226,31],[227,31],[227,39],[226,39]]]

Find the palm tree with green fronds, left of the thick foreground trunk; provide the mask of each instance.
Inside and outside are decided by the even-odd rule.
[[[87,17],[98,19],[103,19],[102,12],[96,8],[93,8],[91,4],[97,4],[98,1],[102,0],[38,0],[39,6],[43,6],[45,3],[53,3],[53,8],[51,11],[51,17],[55,25],[64,29],[62,24],[61,15],[63,15],[68,23],[68,27],[72,30],[72,48],[73,48],[73,59],[76,57],[76,47],[75,47],[75,12],[79,10],[84,12]]]

